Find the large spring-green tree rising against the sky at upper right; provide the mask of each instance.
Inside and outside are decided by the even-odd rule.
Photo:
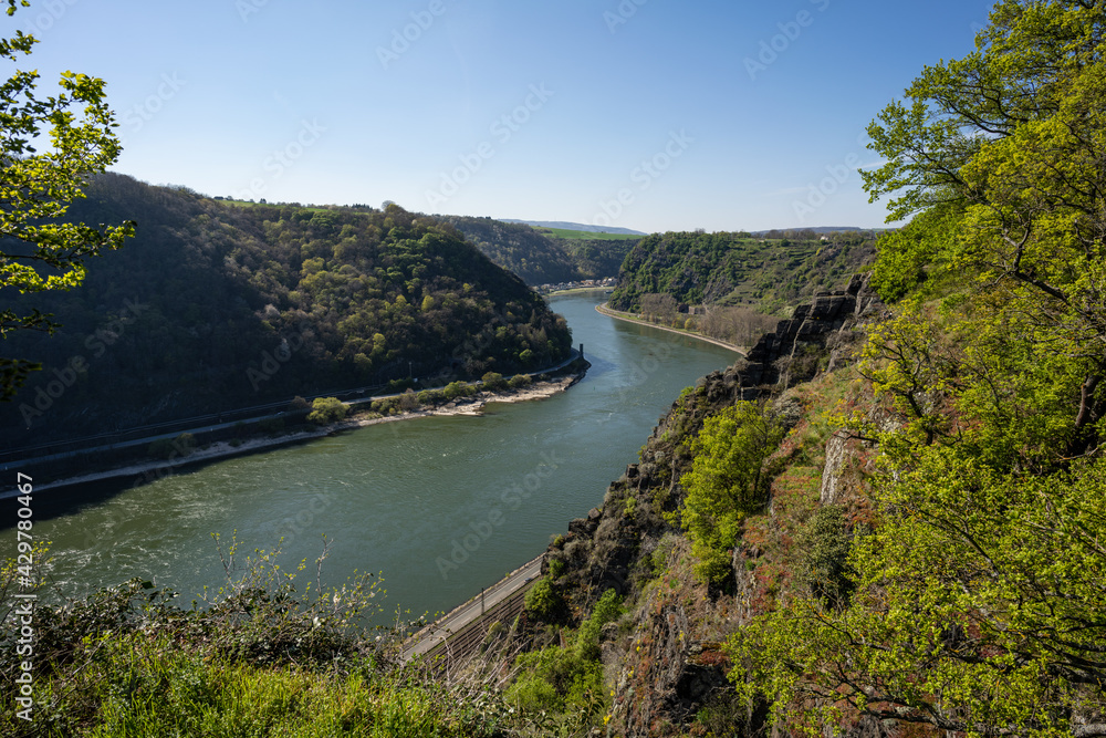
[[[910,253],[899,264],[973,277],[1078,366],[1072,455],[1106,415],[1104,33],[1099,3],[999,2],[974,53],[927,67],[869,126],[887,164],[862,171],[873,200],[896,194],[888,220],[939,225],[928,249],[885,242],[885,266]]]

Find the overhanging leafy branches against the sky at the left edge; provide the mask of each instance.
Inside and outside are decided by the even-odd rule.
[[[29,7],[28,0],[19,4]],[[8,0],[8,14],[17,0]],[[12,62],[29,55],[38,41],[17,31],[0,39],[0,56]],[[87,177],[103,173],[119,156],[114,117],[104,98],[104,82],[64,72],[62,92],[35,93],[38,72],[15,71],[0,86],[0,238],[14,242],[0,252],[0,289],[21,294],[67,290],[84,279],[84,259],[117,249],[134,233],[134,222],[92,228],[62,220],[70,204],[84,197]],[[75,112],[80,108],[80,112]],[[39,150],[49,138],[49,148]],[[52,333],[58,323],[38,310],[0,311],[0,337],[19,330]],[[30,372],[41,364],[0,357],[0,401],[10,401]]]

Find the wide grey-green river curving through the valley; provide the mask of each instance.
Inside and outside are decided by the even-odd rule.
[[[547,399],[369,426],[142,487],[36,495],[34,532],[51,541],[52,584],[79,595],[140,576],[187,602],[225,582],[212,533],[237,537],[243,551],[283,538],[285,569],[314,561],[325,536],[324,584],[383,572],[382,622],[397,607],[404,620],[451,609],[601,505],[680,391],[738,357],[602,315],[603,299],[551,299],[592,367]]]

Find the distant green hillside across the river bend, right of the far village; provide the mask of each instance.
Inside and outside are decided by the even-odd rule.
[[[778,313],[820,290],[844,287],[873,253],[870,232],[654,233],[626,257],[611,305],[637,312],[645,295],[666,294],[679,303]]]

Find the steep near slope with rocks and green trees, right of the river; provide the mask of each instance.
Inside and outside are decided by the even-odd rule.
[[[883,303],[816,295],[689,387],[550,547],[532,710],[587,710],[575,665],[612,735],[1106,736],[1104,39],[1003,0],[883,111]]]

